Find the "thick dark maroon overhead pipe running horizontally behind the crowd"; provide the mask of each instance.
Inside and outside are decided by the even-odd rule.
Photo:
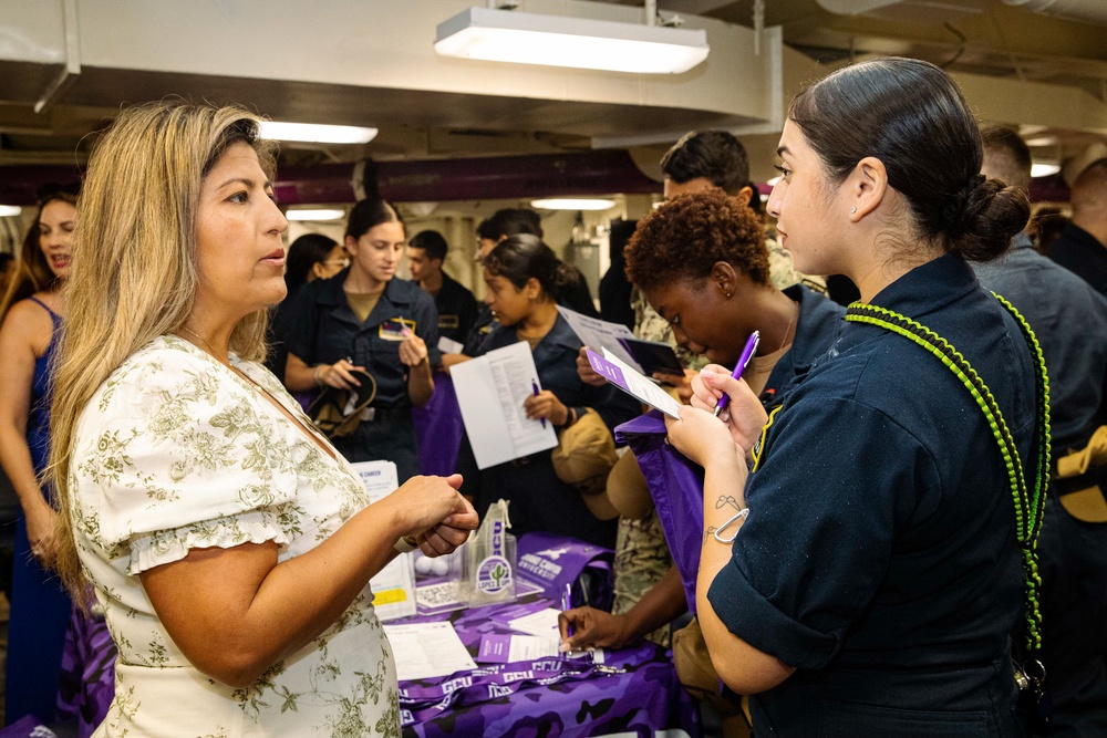
[[[80,179],[76,167],[0,167],[0,205],[33,205],[42,185]],[[288,166],[278,170],[273,188],[281,205],[354,202],[373,194],[396,202],[424,202],[640,195],[661,189],[624,150]]]

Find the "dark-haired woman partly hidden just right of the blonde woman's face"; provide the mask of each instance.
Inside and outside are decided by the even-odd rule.
[[[317,279],[330,279],[350,266],[345,249],[333,238],[322,233],[304,233],[292,241],[284,254],[284,287],[288,294],[273,309],[269,322],[269,353],[266,366],[283,381],[288,349],[284,336],[292,322],[296,298],[300,288]]]

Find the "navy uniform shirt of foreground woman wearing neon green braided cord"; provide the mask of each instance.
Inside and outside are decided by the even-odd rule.
[[[972,270],[945,256],[872,302],[961,351],[1030,462],[1031,353]],[[708,591],[732,633],[798,668],[751,698],[755,732],[1016,735],[1022,558],[996,441],[960,380],[909,340],[845,323],[762,453]]]

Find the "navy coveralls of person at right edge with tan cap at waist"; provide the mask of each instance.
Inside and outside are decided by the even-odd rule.
[[[1107,424],[1107,299],[1035,251],[1026,233],[975,270],[984,289],[1015,305],[1042,344],[1054,460],[1084,448]],[[1099,485],[1107,489],[1107,470]],[[1046,498],[1038,538],[1049,735],[1107,736],[1107,523],[1077,520],[1056,491]]]

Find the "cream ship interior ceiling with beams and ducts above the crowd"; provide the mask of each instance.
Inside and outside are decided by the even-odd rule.
[[[306,17],[298,0],[0,0],[0,205],[29,205],[39,185],[76,176],[121,105],[238,103],[377,128],[368,144],[282,143],[279,198],[345,207],[379,191],[403,205],[412,233],[442,228],[459,249],[448,266],[474,283],[473,229],[495,208],[610,196],[599,214],[544,211],[562,253],[602,247],[607,224],[660,198],[664,150],[706,127],[738,135],[764,184],[803,84],[888,54],[943,66],[982,119],[1017,126],[1036,162],[1067,166],[1035,179],[1038,200],[1064,201],[1072,168],[1107,156],[1107,0],[656,0],[660,24],[705,29],[711,43],[706,62],[676,75],[436,58],[435,23],[477,4],[334,0]],[[487,4],[645,13],[641,0]],[[17,248],[13,224],[28,211],[0,218],[0,251]],[[341,220],[294,222],[289,237],[306,230],[341,235]]]

